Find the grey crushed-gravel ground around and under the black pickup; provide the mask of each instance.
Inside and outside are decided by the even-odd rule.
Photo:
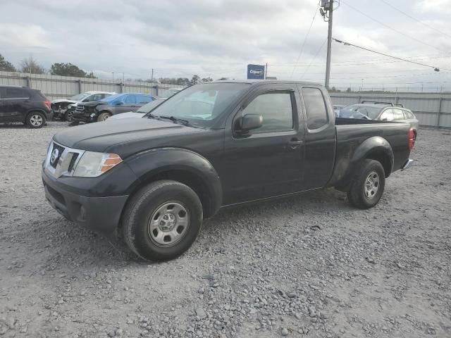
[[[223,211],[148,264],[44,199],[64,127],[0,127],[1,337],[451,337],[450,131],[369,211],[333,189]]]

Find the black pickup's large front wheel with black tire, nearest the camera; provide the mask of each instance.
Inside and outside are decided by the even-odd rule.
[[[175,221],[169,225],[169,228],[172,226],[171,231],[164,227],[162,229],[161,226],[162,222],[165,222],[163,218],[169,215],[168,211],[175,210],[175,207],[166,209],[166,213],[159,213],[164,206],[169,205],[167,208],[170,208],[170,204],[185,208],[184,217],[187,220],[186,227],[174,237],[171,237],[171,233],[179,232],[179,227],[182,227],[178,225],[180,213],[173,214]],[[125,207],[122,218],[123,238],[137,256],[148,261],[167,261],[190,248],[202,227],[202,219],[202,204],[199,196],[190,187],[171,180],[156,181],[140,189]],[[153,230],[152,223],[155,227]],[[166,241],[166,237],[174,242],[161,243]],[[180,238],[175,241],[178,237]]]

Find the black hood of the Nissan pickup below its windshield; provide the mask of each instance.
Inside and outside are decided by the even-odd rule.
[[[55,142],[73,149],[111,152],[125,158],[155,146],[183,146],[188,134],[204,129],[152,118],[125,118],[70,127],[54,136]]]

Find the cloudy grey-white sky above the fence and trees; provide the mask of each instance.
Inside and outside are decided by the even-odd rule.
[[[333,42],[331,85],[451,89],[451,0],[339,2],[334,37],[440,72]],[[242,79],[247,63],[268,63],[268,76],[323,82],[327,23],[319,13],[305,39],[317,4],[0,0],[0,54],[15,65],[30,55],[45,68],[70,62],[105,78],[149,78],[154,68],[156,77]]]

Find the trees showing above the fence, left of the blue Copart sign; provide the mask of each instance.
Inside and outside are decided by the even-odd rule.
[[[44,74],[47,73],[46,69],[40,65],[35,58],[29,56],[20,61],[19,67],[16,68],[13,63],[7,61],[4,56],[0,54],[0,70],[4,72],[20,72],[30,74]],[[49,69],[51,75],[60,76],[73,76],[73,77],[91,77],[97,78],[94,74],[86,73],[85,70],[78,68],[77,65],[72,63],[54,63]],[[211,77],[199,77],[199,75],[192,75],[191,79],[188,77],[160,77],[159,79],[126,79],[127,81],[138,82],[159,82],[163,84],[177,84],[179,86],[192,86],[202,82],[211,82]],[[228,80],[227,77],[221,77],[218,80]]]

